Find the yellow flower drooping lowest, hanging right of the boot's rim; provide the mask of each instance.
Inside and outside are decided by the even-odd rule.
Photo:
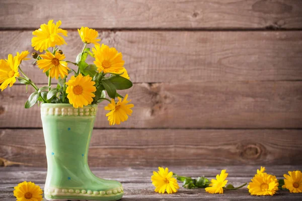
[[[108,121],[110,126],[119,125],[121,122],[127,121],[128,115],[131,116],[133,108],[133,104],[128,104],[131,100],[127,100],[128,94],[125,95],[125,98],[118,97],[118,102],[115,104],[114,99],[111,99],[111,104],[105,107],[105,110],[109,110],[110,112],[106,114],[108,117]],[[126,105],[128,104],[128,105]]]

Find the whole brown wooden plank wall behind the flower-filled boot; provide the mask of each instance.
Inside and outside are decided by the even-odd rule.
[[[302,163],[302,1],[1,0],[0,57],[34,51],[32,31],[49,19],[68,30],[68,60],[83,48],[76,29],[95,28],[134,83],[127,122],[110,127],[99,107],[90,166]],[[0,92],[0,157],[45,167],[27,97],[20,84]]]

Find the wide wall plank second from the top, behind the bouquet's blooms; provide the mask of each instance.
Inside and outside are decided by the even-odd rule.
[[[133,82],[302,80],[300,31],[104,31],[100,35],[104,44],[123,53]],[[31,38],[31,31],[0,31],[0,58],[33,52]],[[78,31],[69,31],[66,42],[61,49],[66,60],[74,61],[83,49]],[[32,62],[23,61],[23,70],[36,83],[47,83]]]

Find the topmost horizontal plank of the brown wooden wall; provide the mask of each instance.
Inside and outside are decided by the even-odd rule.
[[[109,29],[299,29],[297,0],[1,1],[5,28],[37,28],[61,20],[63,28]]]

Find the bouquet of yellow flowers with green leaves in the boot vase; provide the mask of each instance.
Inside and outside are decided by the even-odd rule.
[[[17,81],[32,86],[35,91],[30,94],[25,108],[31,108],[36,103],[71,104],[74,108],[99,104],[108,100],[105,110],[110,111],[106,116],[110,125],[120,124],[128,119],[133,104],[120,95],[117,90],[128,89],[132,86],[127,70],[124,68],[122,53],[113,47],[100,45],[98,32],[88,27],[78,29],[84,43],[84,48],[78,54],[74,62],[65,61],[65,55],[59,49],[66,44],[63,37],[67,37],[67,31],[60,29],[61,21],[56,24],[50,20],[48,24],[41,25],[40,29],[33,32],[32,47],[39,51],[33,52],[34,63],[43,70],[48,77],[48,86],[37,85],[24,73],[20,64],[22,60],[28,60],[29,51],[17,52],[16,56],[8,55],[8,59],[0,60],[0,88],[6,89]],[[88,44],[94,44],[92,50]],[[51,49],[49,49],[51,48]],[[41,54],[43,51],[44,54]],[[95,59],[94,64],[86,62],[87,57]],[[73,69],[71,66],[75,67]],[[68,79],[68,76],[71,77]],[[51,78],[58,80],[53,87]],[[106,98],[106,92],[109,98]],[[117,98],[117,100],[116,100]],[[122,99],[124,98],[124,99]]]

